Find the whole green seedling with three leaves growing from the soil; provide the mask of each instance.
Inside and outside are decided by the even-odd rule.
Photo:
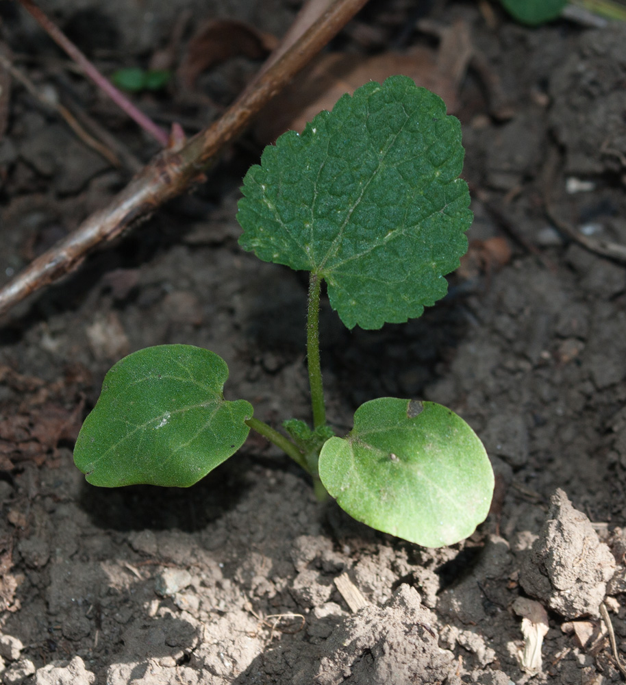
[[[396,76],[343,96],[301,135],[266,147],[243,184],[240,245],[310,273],[307,352],[312,426],[286,435],[227,401],[225,362],[190,345],[132,353],[107,373],[74,459],[105,487],[187,487],[232,456],[249,429],[283,449],[358,521],[427,547],[470,535],[487,515],[493,473],[473,430],[433,402],[364,403],[339,438],[326,420],[318,314],[323,281],[349,328],[420,316],[447,291],[472,215],[458,178],[459,122],[436,95]]]

